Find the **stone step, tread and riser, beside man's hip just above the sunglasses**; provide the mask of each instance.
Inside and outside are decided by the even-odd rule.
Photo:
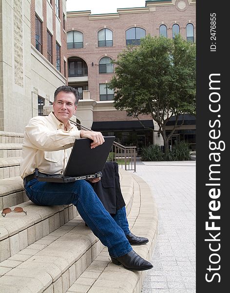
[[[21,177],[0,180],[0,209],[16,206],[28,200]]]

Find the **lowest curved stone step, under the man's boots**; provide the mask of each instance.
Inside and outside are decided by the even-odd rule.
[[[149,238],[147,244],[134,246],[134,251],[150,260],[158,235],[157,209],[148,184],[140,177],[132,176],[134,202],[128,216],[129,226],[135,235]],[[107,248],[104,248],[67,293],[140,293],[147,272],[131,272],[114,265]]]

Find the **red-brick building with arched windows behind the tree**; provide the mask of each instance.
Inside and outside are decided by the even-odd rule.
[[[114,74],[110,61],[127,44],[138,45],[147,34],[173,38],[179,32],[183,38],[195,42],[195,3],[195,0],[150,0],[145,7],[117,9],[117,13],[111,14],[67,12],[68,84],[80,93],[77,119],[82,125],[115,134],[123,145],[140,148],[162,144],[156,132],[144,129],[138,121],[127,117],[125,111],[113,107],[114,92],[106,86]],[[150,116],[142,116],[141,120],[153,128]],[[175,133],[171,144],[180,139],[195,143],[194,120],[191,117],[187,120],[189,125]]]

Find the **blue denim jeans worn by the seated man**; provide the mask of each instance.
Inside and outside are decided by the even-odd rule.
[[[108,247],[109,254],[112,257],[120,257],[132,251],[124,231],[116,223],[116,221],[122,222],[124,211],[120,210],[113,219],[87,181],[52,183],[39,182],[35,178],[25,184],[25,191],[29,199],[36,205],[74,204],[85,223],[102,244]],[[126,232],[127,224],[123,225]]]

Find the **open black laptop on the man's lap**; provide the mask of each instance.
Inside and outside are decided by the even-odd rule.
[[[91,148],[91,139],[76,139],[64,174],[45,175],[38,172],[38,181],[66,183],[101,177],[115,136],[105,136],[104,140],[102,145]]]

